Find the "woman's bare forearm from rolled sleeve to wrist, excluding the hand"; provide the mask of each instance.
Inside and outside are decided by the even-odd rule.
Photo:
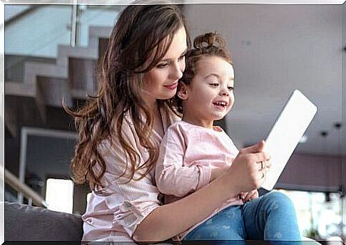
[[[154,209],[137,226],[133,239],[164,241],[187,230],[208,217],[227,197],[238,193],[237,188],[224,188],[229,184],[228,179],[220,177],[183,199]]]

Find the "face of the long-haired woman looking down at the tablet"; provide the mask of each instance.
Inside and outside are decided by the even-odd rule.
[[[157,99],[166,100],[175,95],[178,80],[185,70],[186,50],[186,33],[182,27],[174,34],[171,46],[162,60],[143,75],[148,103],[155,103]]]

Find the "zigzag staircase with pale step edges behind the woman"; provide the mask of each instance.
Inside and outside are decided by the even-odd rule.
[[[95,69],[106,51],[111,27],[90,26],[88,33],[88,46],[58,46],[55,61],[26,60],[22,74],[16,74],[19,80],[5,80],[5,126],[12,137],[18,137],[22,125],[58,125],[59,118],[49,122],[48,108],[61,109],[63,99],[73,108],[96,93]]]

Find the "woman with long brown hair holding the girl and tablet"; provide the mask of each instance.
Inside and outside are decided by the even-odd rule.
[[[170,99],[185,69],[189,40],[178,6],[128,6],[114,26],[98,94],[81,110],[70,111],[79,132],[73,179],[93,189],[83,215],[83,241],[164,241],[229,197],[263,183],[256,162],[269,155],[258,144],[240,150],[232,171],[161,205],[153,168],[158,144],[177,120]]]

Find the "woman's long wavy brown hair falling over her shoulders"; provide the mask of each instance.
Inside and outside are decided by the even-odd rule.
[[[185,18],[178,6],[132,5],[121,12],[98,68],[98,93],[74,112],[65,106],[73,115],[78,130],[78,142],[71,161],[74,182],[88,182],[96,193],[104,193],[101,178],[106,172],[106,162],[98,145],[114,137],[118,137],[126,153],[127,165],[123,174],[128,181],[135,179],[138,170],[141,174],[135,180],[143,178],[156,164],[158,149],[150,137],[153,113],[142,97],[142,78],[143,73],[150,71],[165,56],[175,32],[181,27],[187,32],[189,46]],[[169,100],[158,103],[161,107],[165,104],[172,110]],[[126,140],[122,131],[126,113],[131,117],[139,143],[149,153],[148,160],[142,165],[136,146]]]

